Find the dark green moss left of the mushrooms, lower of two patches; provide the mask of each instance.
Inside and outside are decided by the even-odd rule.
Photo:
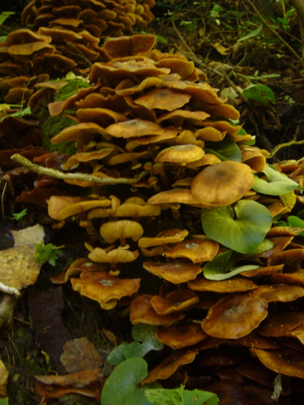
[[[59,145],[51,143],[51,139],[59,134],[62,130],[72,125],[75,125],[75,121],[68,118],[64,114],[58,115],[57,117],[51,117],[49,110],[45,107],[39,107],[36,111],[37,116],[39,117],[39,128],[43,132],[44,141],[43,146],[45,149],[50,152],[55,150],[60,150],[68,154],[74,154],[77,152],[75,147],[75,142],[62,142]],[[69,110],[69,112],[74,113],[74,110]]]

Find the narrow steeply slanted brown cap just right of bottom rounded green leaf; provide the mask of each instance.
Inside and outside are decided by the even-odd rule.
[[[182,365],[192,363],[198,352],[197,349],[176,350],[161,362],[160,365],[151,370],[141,382],[141,385],[153,383],[157,380],[166,380]]]

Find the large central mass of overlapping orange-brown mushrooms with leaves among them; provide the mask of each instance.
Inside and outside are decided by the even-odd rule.
[[[72,278],[74,290],[105,309],[129,296],[132,324],[159,327],[157,338],[175,351],[142,384],[172,378],[218,393],[221,403],[260,405],[271,403],[280,374],[282,395],[300,403],[302,161],[267,165],[268,152],[234,124],[238,111],[206,75],[154,44],[153,35],[110,39],[103,47],[109,62],[93,64],[91,86],[49,104],[52,116],[74,108],[76,124],[52,140],[78,148],[62,170],[77,168],[110,184],[66,180],[91,194],[50,198],[54,220],[77,216],[94,239],[87,244],[91,261],[71,265],[60,282],[81,272]],[[122,203],[115,184],[139,173],[145,177]],[[180,229],[188,213],[202,220],[191,235]],[[146,223],[159,216],[179,226],[151,234]],[[106,289],[119,284],[122,263],[135,261],[137,248],[148,257],[143,268],[162,280],[159,295],[137,295],[138,278],[121,296]],[[192,362],[188,376],[178,372]],[[198,367],[209,385],[199,381]]]

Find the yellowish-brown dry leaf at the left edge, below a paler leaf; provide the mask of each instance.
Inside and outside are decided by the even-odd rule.
[[[35,283],[41,264],[35,262],[35,251],[19,246],[0,252],[0,281],[21,290]]]

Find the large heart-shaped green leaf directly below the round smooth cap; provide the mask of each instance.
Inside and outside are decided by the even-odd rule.
[[[240,200],[231,206],[202,209],[204,232],[226,248],[252,253],[261,244],[272,225],[268,209],[253,200]]]

